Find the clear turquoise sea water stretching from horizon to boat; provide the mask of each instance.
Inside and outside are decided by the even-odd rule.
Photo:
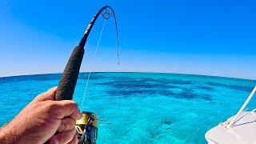
[[[36,95],[57,86],[60,76],[0,78],[0,125]],[[74,94],[79,106],[86,76],[80,74]],[[82,110],[103,120],[98,143],[206,143],[206,131],[234,115],[255,85],[185,74],[93,73]],[[256,107],[256,97],[248,107]]]

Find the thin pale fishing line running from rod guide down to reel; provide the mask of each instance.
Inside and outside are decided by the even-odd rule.
[[[104,23],[103,23],[103,25],[102,25],[102,30],[101,30],[101,33],[100,33],[100,35],[99,35],[99,38],[98,38],[98,42],[97,42],[97,46],[96,46],[96,49],[95,49],[95,51],[94,51],[94,57],[93,57],[93,60],[92,60],[92,62],[91,62],[91,64],[94,64],[94,61],[95,61],[95,58],[96,58],[96,54],[97,54],[97,51],[98,51],[98,47],[99,47],[99,43],[101,42],[101,39],[102,39],[102,33],[103,33],[103,30],[104,30],[104,28],[105,28],[105,26],[106,26],[106,18],[104,18],[105,20],[104,20]],[[91,70],[90,70],[90,72],[89,72],[89,74],[88,74],[88,77],[87,77],[87,80],[86,80],[86,89],[85,89],[85,91],[84,91],[84,93],[83,93],[83,97],[82,97],[82,106],[81,106],[81,110],[82,110],[82,108],[83,108],[83,103],[84,103],[84,101],[85,101],[85,97],[86,97],[86,91],[87,91],[87,87],[88,87],[88,83],[89,83],[89,80],[90,80],[90,73],[91,73]]]

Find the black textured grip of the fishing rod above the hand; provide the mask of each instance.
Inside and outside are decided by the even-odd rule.
[[[82,46],[74,48],[58,84],[58,90],[55,94],[56,101],[72,100],[84,52]]]

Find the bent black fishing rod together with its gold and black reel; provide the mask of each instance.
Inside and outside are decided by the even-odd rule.
[[[109,11],[110,10],[110,11]],[[102,13],[104,12],[104,13]],[[85,33],[82,36],[78,46],[74,47],[72,54],[68,62],[66,63],[66,67],[64,72],[62,73],[62,78],[58,84],[58,90],[55,94],[55,100],[72,100],[74,89],[78,80],[79,70],[82,64],[82,58],[85,52],[85,45],[87,38],[90,34],[90,30],[92,30],[94,23],[98,19],[98,16],[102,14],[102,17],[105,19],[109,19],[110,16],[114,17],[115,29],[116,29],[116,37],[117,37],[117,48],[118,48],[118,25],[115,17],[114,10],[110,6],[103,6],[98,13],[95,14],[94,18],[91,19],[90,24],[87,26]],[[118,48],[119,49],[119,48]],[[119,64],[119,53],[118,53],[118,64]],[[96,143],[98,128],[98,116],[96,114],[90,112],[82,112],[82,119],[76,122],[76,129],[78,133],[78,143]]]

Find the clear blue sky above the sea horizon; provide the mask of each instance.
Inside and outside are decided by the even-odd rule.
[[[100,18],[86,44],[81,71],[146,71],[256,79],[254,1],[0,2],[0,76],[60,73],[86,26],[103,5],[118,18]]]

